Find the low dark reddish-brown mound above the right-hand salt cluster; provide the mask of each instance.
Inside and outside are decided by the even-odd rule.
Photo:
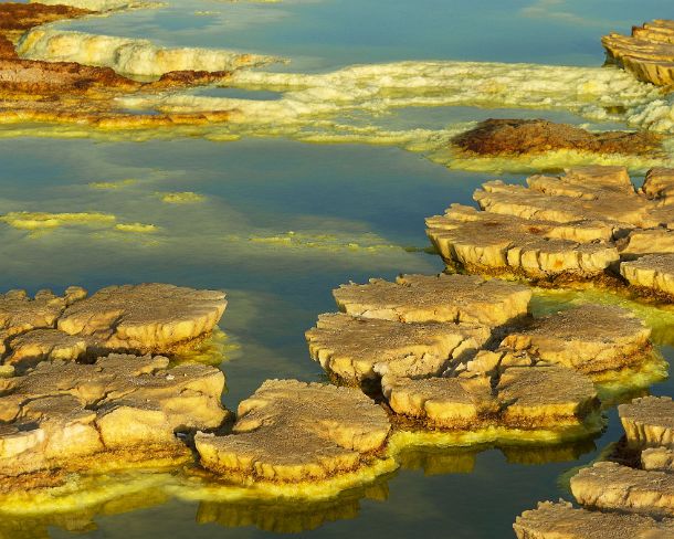
[[[649,131],[590,133],[545,119],[489,118],[454,137],[452,146],[480,157],[518,157],[555,150],[641,156],[660,150],[661,137]]]

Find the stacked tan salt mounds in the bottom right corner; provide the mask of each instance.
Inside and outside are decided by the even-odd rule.
[[[571,478],[582,508],[540,504],[517,518],[518,538],[674,538],[674,403],[646,397],[621,404],[619,414],[626,443],[610,456],[618,462],[596,463]]]

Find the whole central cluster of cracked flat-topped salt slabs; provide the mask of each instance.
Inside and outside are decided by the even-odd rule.
[[[403,429],[588,434],[599,427],[592,380],[651,355],[650,330],[630,311],[581,305],[531,318],[529,290],[515,283],[413,275],[334,294],[346,313],[307,331],[312,358],[339,382],[380,385]]]

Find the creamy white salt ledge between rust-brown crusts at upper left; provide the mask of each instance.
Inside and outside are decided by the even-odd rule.
[[[213,49],[161,49],[147,40],[36,28],[24,34],[17,53],[28,60],[77,62],[112,67],[134,76],[160,76],[171,71],[235,71],[277,59]]]

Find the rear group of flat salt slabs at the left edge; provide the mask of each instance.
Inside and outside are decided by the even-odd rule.
[[[21,370],[43,360],[77,360],[109,351],[175,353],[208,337],[225,295],[168,284],[80,287],[0,295],[0,358]]]

